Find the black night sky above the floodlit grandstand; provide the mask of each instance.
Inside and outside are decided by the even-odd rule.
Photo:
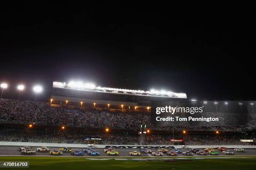
[[[71,1],[70,1],[71,2]],[[212,2],[213,3],[213,2]],[[197,100],[256,100],[255,4],[12,3],[1,5],[0,82],[84,80],[185,92]]]

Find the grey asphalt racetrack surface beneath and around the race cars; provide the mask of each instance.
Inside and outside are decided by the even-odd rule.
[[[0,156],[31,156],[29,154],[28,155],[21,154],[20,151],[18,151],[18,147],[19,146],[0,146]],[[38,146],[38,147],[40,147],[40,146]],[[36,150],[36,148],[38,148],[38,147],[33,146],[32,148],[34,150]],[[59,149],[59,148],[56,148],[56,147],[51,147],[50,148],[50,150],[54,150],[54,149]],[[83,150],[83,149],[84,148],[72,148],[72,150]],[[92,157],[102,157],[102,156],[108,157],[108,155],[104,152],[104,148],[94,148],[94,149],[100,151],[99,156],[89,156],[89,155],[87,155],[87,153],[84,153],[83,157],[90,157],[90,158],[92,158]],[[130,148],[129,149],[125,149],[125,148],[121,149],[121,148],[117,148],[116,150],[119,152],[119,155],[116,156],[116,157],[129,157],[130,155],[128,155],[128,152],[131,152],[133,150],[140,151],[141,149],[130,149]],[[157,149],[151,149],[151,150],[152,150],[152,152],[157,151]],[[170,151],[171,149],[168,149],[168,150]],[[185,152],[185,151],[188,151],[189,148],[181,149],[181,150],[182,150],[182,152]],[[203,149],[200,149],[200,150],[203,150]],[[215,150],[217,150],[217,148],[215,148]],[[228,150],[233,151],[233,148],[228,148]],[[233,152],[234,152],[233,155],[256,155],[256,149],[245,149],[244,152],[236,152],[236,151],[233,151]],[[218,153],[219,153],[219,156],[225,155],[220,151],[218,151]],[[36,153],[33,154],[33,156],[52,156],[52,155],[49,155],[49,151],[48,152],[38,152],[38,151],[36,151]],[[63,155],[56,155],[56,156],[72,156],[72,155],[70,153],[63,153]],[[146,153],[141,153],[141,156],[153,157],[152,154],[146,154]],[[164,156],[166,156],[166,155],[164,154]],[[179,153],[178,156],[183,156],[183,155],[182,155],[182,153]],[[197,156],[197,154],[194,153],[194,156]],[[75,156],[73,156],[73,157],[75,157]],[[176,156],[169,156],[169,157],[176,157]]]

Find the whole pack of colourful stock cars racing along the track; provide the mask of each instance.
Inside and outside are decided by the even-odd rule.
[[[64,147],[59,149],[50,150],[49,147],[38,147],[36,150],[33,150],[31,146],[21,146],[18,148],[21,154],[28,154],[33,155],[36,152],[49,152],[49,155],[62,155],[63,153],[70,153],[73,156],[84,156],[85,154],[89,156],[99,156],[100,151],[95,150],[95,148],[85,148],[83,150],[72,150],[72,148]],[[131,152],[128,152],[128,155],[130,156],[140,156],[141,153],[146,153],[148,155],[152,156],[177,156],[179,153],[181,153],[184,156],[193,156],[194,154],[197,155],[219,155],[218,151],[222,152],[225,155],[233,155],[234,152],[244,152],[243,148],[234,148],[233,151],[228,150],[228,148],[225,147],[219,147],[217,150],[214,148],[205,148],[204,150],[199,150],[196,148],[189,149],[185,152],[182,152],[180,149],[172,149],[168,150],[166,148],[160,148],[156,151],[152,152],[151,149],[141,149],[140,152],[137,150],[133,150]],[[119,152],[115,150],[115,148],[106,148],[104,149],[104,152],[109,156],[117,156],[119,155]]]

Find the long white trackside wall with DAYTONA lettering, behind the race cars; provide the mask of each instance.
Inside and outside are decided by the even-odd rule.
[[[7,146],[48,146],[48,147],[70,147],[70,148],[88,148],[87,144],[72,144],[72,143],[33,143],[33,142],[4,142],[0,141],[0,145]],[[97,148],[106,148],[109,146],[122,146],[121,148],[157,148],[157,147],[172,147],[173,145],[95,145]],[[184,145],[174,145],[174,148],[184,148]],[[186,148],[254,148],[256,145],[187,145]]]

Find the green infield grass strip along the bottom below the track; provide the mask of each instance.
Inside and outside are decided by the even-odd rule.
[[[0,161],[28,161],[29,168],[0,170],[253,170],[255,156],[244,158],[166,161],[86,160],[82,157],[0,157]],[[110,158],[110,157],[107,157]],[[116,157],[113,157],[116,158]],[[119,157],[120,158],[120,157]],[[125,158],[125,157],[124,157]],[[129,157],[131,158],[131,157]],[[143,158],[143,157],[135,157]],[[169,157],[170,158],[170,157]],[[175,158],[175,157],[171,157]],[[181,158],[181,157],[179,157]],[[184,157],[193,158],[193,157]]]

